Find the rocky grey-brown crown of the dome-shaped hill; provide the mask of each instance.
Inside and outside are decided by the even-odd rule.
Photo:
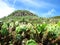
[[[27,10],[16,10],[12,12],[9,16],[37,16],[37,15]]]

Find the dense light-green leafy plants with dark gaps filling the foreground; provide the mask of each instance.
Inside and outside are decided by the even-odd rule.
[[[0,22],[0,45],[60,45],[60,22]]]

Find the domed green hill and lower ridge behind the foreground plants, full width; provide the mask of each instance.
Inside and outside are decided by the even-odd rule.
[[[60,20],[60,16],[42,18],[27,10],[16,10],[7,17],[3,17],[0,19],[0,21],[4,21],[4,22],[11,20],[13,21],[25,20],[30,23],[42,23],[42,22],[51,23],[51,22],[58,22]]]

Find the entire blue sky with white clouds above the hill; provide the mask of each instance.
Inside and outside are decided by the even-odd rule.
[[[15,10],[29,10],[40,17],[60,16],[60,0],[0,0],[0,18]]]

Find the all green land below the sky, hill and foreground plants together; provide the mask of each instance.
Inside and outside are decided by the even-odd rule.
[[[0,45],[60,45],[60,21],[31,14],[18,10],[0,19]]]

